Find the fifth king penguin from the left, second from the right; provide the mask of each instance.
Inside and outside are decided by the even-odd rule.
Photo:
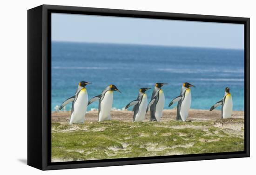
[[[188,115],[189,115],[189,109],[191,105],[191,90],[190,87],[194,87],[194,85],[185,82],[182,85],[181,94],[178,97],[175,97],[169,104],[169,107],[174,104],[175,102],[178,102],[177,105],[177,120],[186,121]]]

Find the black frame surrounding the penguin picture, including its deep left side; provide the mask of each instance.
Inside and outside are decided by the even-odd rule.
[[[50,162],[51,150],[51,13],[90,14],[150,19],[175,19],[219,23],[244,24],[244,151],[137,157],[108,160]],[[180,162],[223,158],[249,157],[249,18],[145,12],[88,8],[75,6],[41,5],[27,11],[27,164],[41,170],[73,169],[144,163]]]

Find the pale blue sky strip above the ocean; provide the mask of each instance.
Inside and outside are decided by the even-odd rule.
[[[52,41],[243,49],[244,25],[52,13]]]

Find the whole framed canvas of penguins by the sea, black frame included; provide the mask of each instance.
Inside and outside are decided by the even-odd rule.
[[[249,18],[28,10],[27,163],[249,156]]]

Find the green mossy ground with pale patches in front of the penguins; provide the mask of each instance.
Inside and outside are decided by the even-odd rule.
[[[243,150],[243,119],[52,123],[52,162]]]

